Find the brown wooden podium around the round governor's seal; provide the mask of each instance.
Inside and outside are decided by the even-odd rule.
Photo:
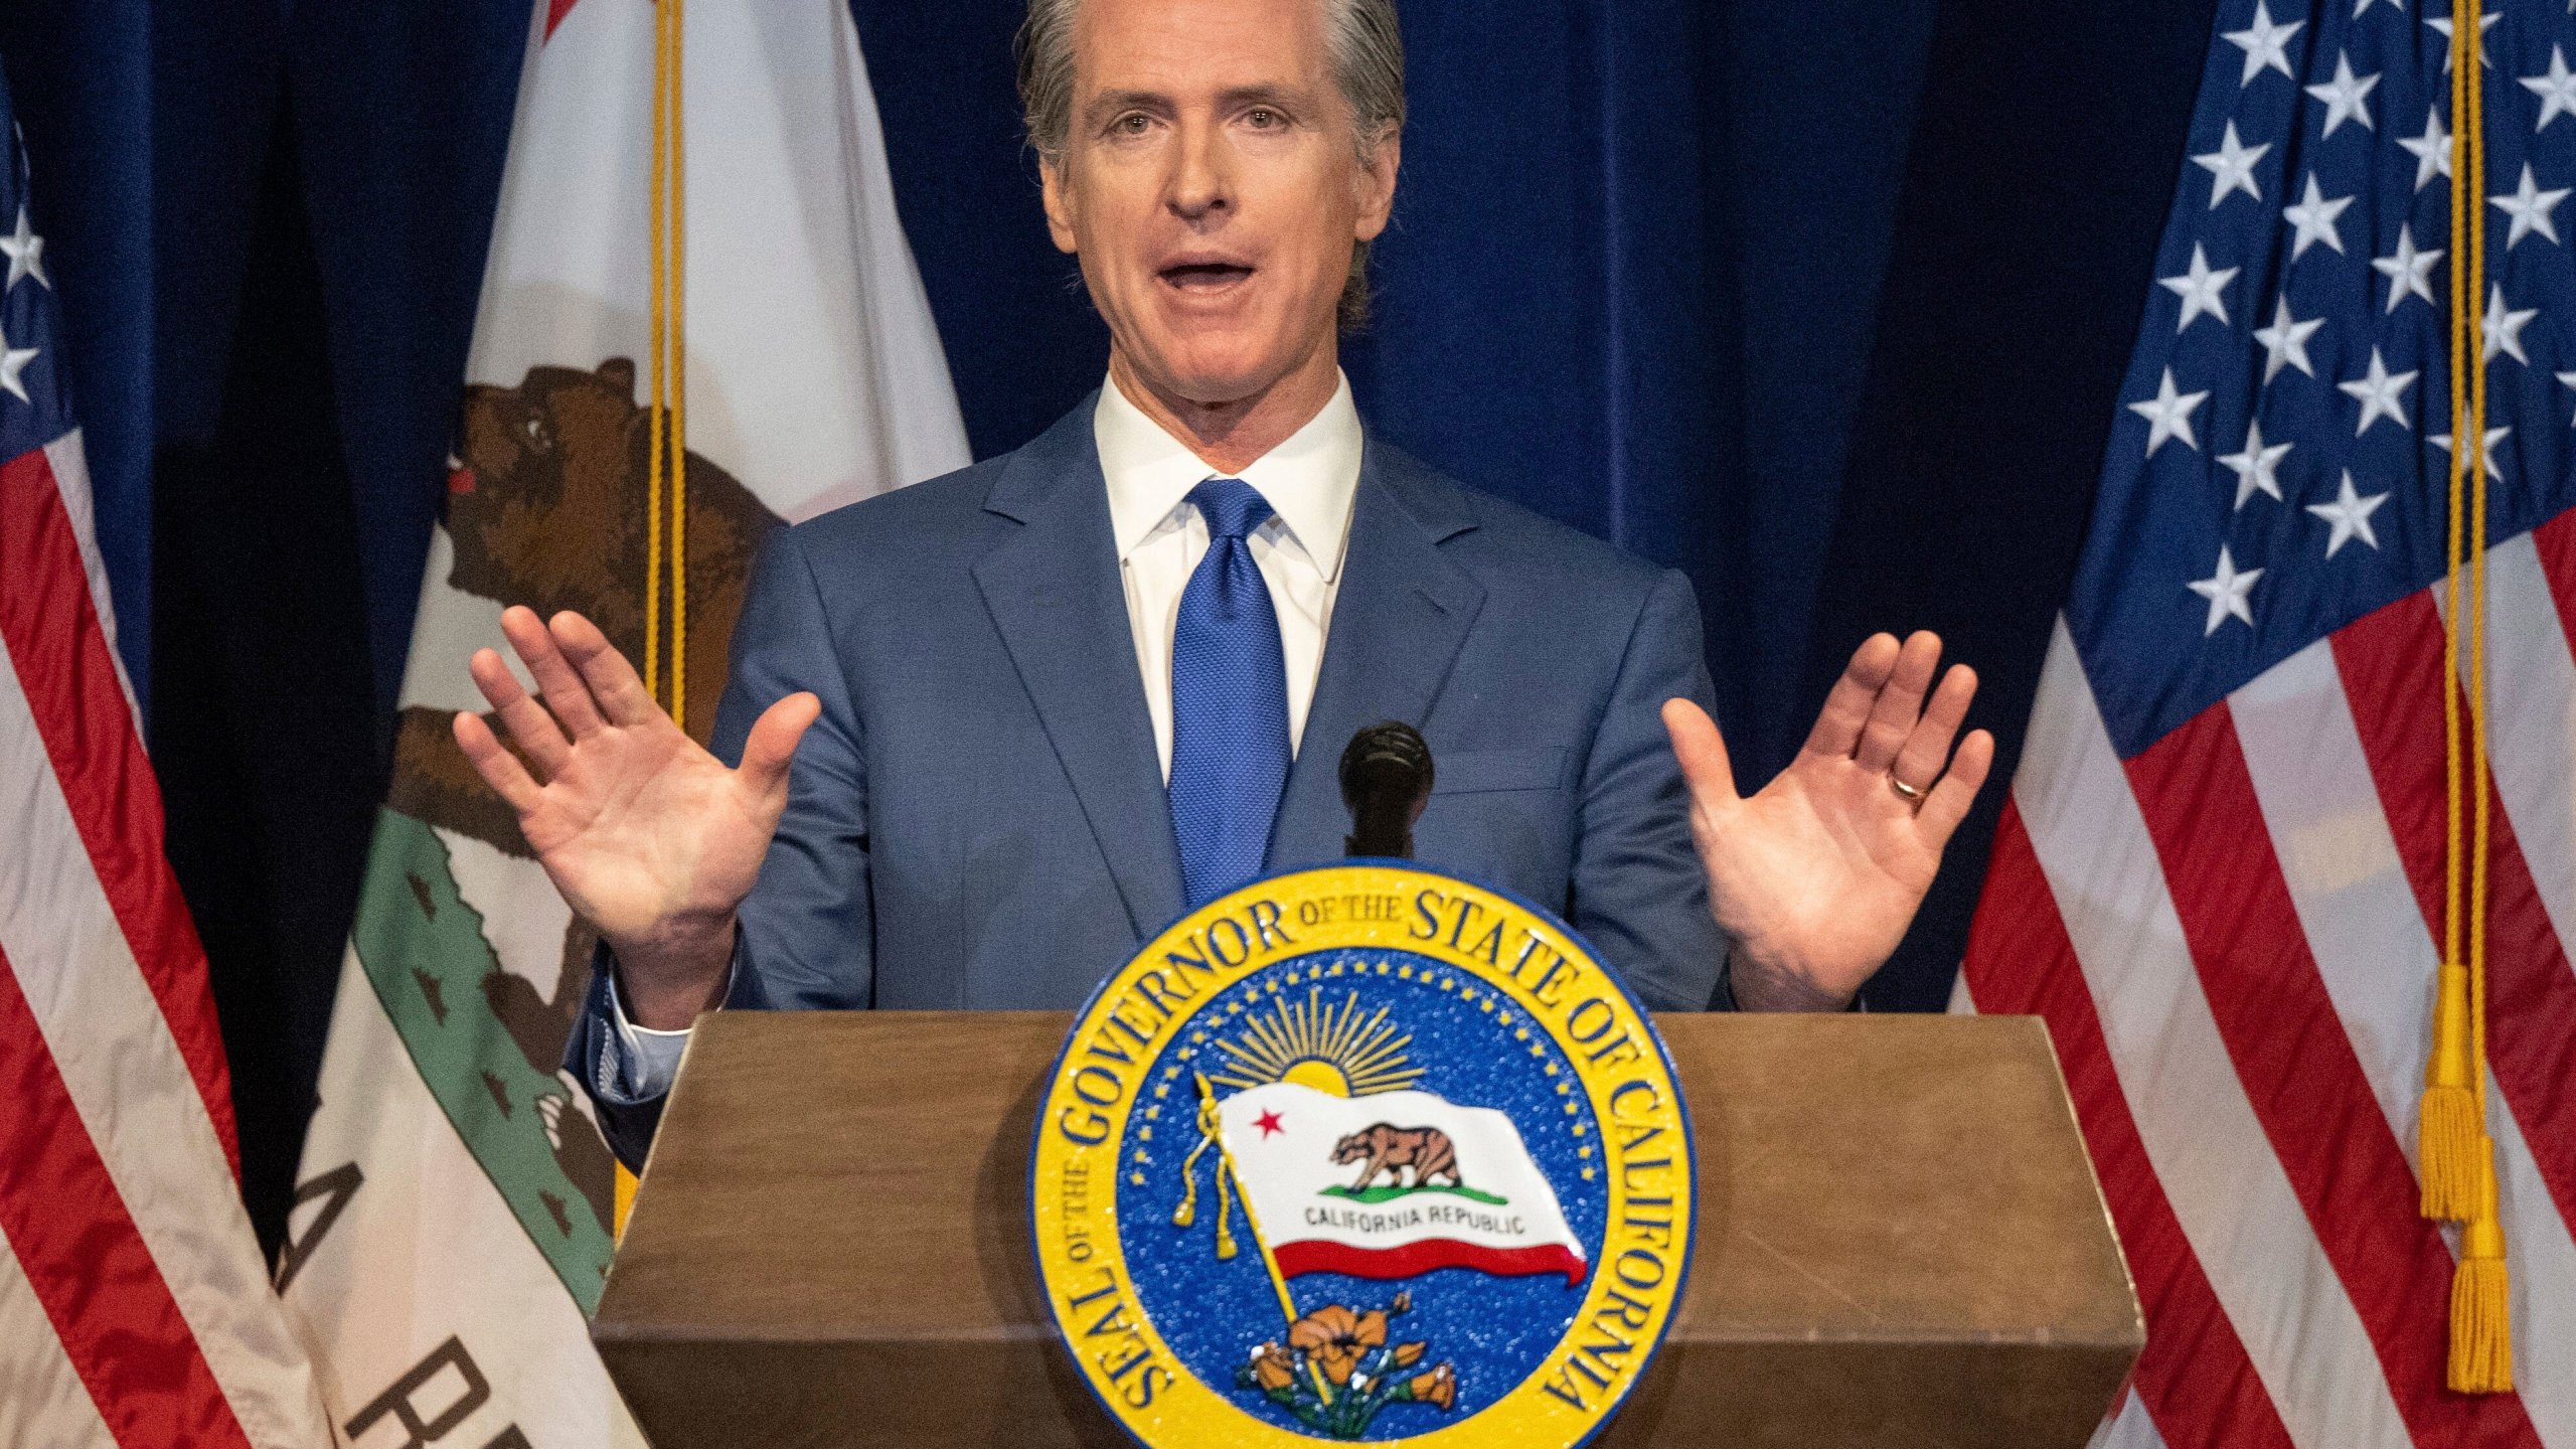
[[[1046,1320],[1056,1013],[698,1026],[592,1338],[657,1449],[1128,1444]],[[2143,1343],[2038,1018],[1659,1016],[1700,1220],[1605,1446],[2076,1446]]]

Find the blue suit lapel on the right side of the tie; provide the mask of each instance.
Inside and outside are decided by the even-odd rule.
[[[1484,606],[1484,585],[1443,557],[1440,541],[1473,526],[1473,505],[1455,485],[1368,441],[1324,668],[1270,828],[1270,869],[1342,859],[1342,748],[1365,724],[1401,719],[1419,730],[1430,717]]]

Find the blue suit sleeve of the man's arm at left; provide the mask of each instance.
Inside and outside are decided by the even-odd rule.
[[[732,678],[716,709],[716,758],[739,766],[760,712],[796,691],[822,699],[822,714],[796,745],[788,807],[742,902],[726,1011],[863,1008],[876,977],[866,732],[801,536],[781,529],[752,565],[734,624]],[[603,946],[592,959],[582,1018],[564,1044],[564,1067],[598,1104],[608,1145],[636,1165],[662,1119],[662,1091],[629,1091],[629,1083],[662,1083],[631,1073],[608,995],[613,972],[616,959]]]

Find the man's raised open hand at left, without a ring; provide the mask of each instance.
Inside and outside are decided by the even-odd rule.
[[[538,776],[479,714],[456,712],[456,745],[502,799],[538,864],[616,951],[639,1026],[677,1029],[716,1006],[734,954],[734,908],[788,804],[788,761],[822,701],[791,694],[742,745],[742,768],[670,722],[598,624],[533,608],[500,616],[544,704],[497,650],[466,665]]]

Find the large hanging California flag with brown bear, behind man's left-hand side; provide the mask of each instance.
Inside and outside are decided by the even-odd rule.
[[[500,611],[644,637],[654,5],[533,0],[466,397],[278,1287],[358,1449],[639,1444],[590,1348],[590,936],[448,735]],[[760,539],[969,462],[840,0],[685,10],[688,724]],[[641,660],[639,660],[641,663]]]

